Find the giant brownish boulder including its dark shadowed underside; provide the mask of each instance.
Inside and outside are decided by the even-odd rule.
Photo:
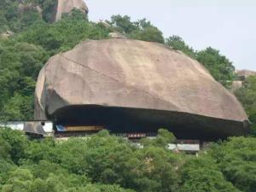
[[[35,119],[108,125],[112,131],[166,127],[180,138],[218,139],[247,131],[247,114],[202,65],[162,44],[86,41],[41,70]]]

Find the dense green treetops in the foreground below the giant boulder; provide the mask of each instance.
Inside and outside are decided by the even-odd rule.
[[[141,148],[108,131],[61,142],[0,129],[0,191],[255,191],[255,139],[230,138],[199,157],[168,150],[174,141],[165,130]]]

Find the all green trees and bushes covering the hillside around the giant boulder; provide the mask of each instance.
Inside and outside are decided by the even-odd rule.
[[[20,3],[26,5],[26,11],[20,11]],[[51,23],[54,5],[55,0],[0,2],[0,121],[33,119],[35,84],[49,57],[86,39],[108,38],[109,32],[183,51],[227,88],[235,78],[235,67],[218,49],[197,51],[178,36],[165,39],[148,20],[113,15],[111,20],[95,23],[73,10]],[[256,77],[247,79],[236,96],[255,127]],[[256,136],[255,130],[252,136]],[[0,191],[256,191],[255,138],[234,137],[212,144],[198,158],[167,150],[167,143],[174,140],[172,133],[160,130],[155,140],[144,139],[144,148],[137,148],[107,131],[90,139],[55,142],[31,141],[20,131],[0,129]]]

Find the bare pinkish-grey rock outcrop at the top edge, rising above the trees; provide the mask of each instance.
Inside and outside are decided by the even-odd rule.
[[[83,0],[58,0],[58,5],[55,14],[55,21],[61,20],[62,14],[68,14],[73,9],[80,9],[87,15],[89,12],[88,7]]]

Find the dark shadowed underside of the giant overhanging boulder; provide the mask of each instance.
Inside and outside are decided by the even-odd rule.
[[[164,128],[179,139],[218,141],[246,136],[249,122],[145,108],[72,105],[48,116],[60,125],[101,125],[112,133],[156,133]]]

